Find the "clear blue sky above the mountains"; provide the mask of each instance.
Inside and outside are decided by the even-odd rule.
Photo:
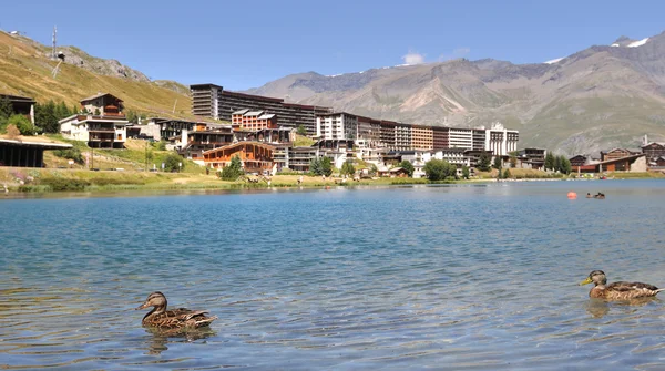
[[[8,1],[0,29],[113,58],[151,79],[260,86],[406,61],[544,62],[665,31],[665,1]]]

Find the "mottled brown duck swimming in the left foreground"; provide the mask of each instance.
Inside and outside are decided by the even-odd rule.
[[[216,316],[208,317],[205,310],[190,310],[178,308],[166,310],[166,297],[160,291],[155,291],[147,296],[145,302],[139,306],[135,310],[154,307],[149,311],[142,320],[143,326],[160,329],[197,329],[208,327]]]

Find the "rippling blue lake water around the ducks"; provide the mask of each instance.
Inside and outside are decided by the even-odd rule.
[[[663,181],[63,196],[0,199],[0,369],[665,369],[662,300],[576,286],[665,287]]]

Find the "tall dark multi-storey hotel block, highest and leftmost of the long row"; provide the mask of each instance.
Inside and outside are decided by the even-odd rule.
[[[192,113],[215,120],[232,121],[232,114],[239,110],[265,111],[276,114],[279,125],[303,126],[308,135],[316,135],[316,116],[329,113],[329,107],[285,103],[282,99],[225,91],[215,84],[190,85],[192,91]]]

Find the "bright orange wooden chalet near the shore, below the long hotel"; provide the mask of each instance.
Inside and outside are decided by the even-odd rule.
[[[206,167],[222,168],[231,164],[235,156],[241,158],[247,173],[273,171],[275,147],[259,142],[239,142],[203,153]]]

